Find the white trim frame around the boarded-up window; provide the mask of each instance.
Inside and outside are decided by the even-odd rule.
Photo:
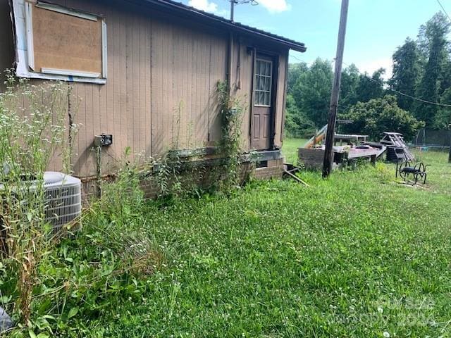
[[[63,8],[52,4],[39,3],[36,6],[49,9],[58,13],[77,16],[87,20],[101,20],[101,58],[102,73],[89,73],[77,70],[56,70],[52,68],[44,68],[42,72],[35,71],[35,53],[33,50],[33,34],[32,34],[32,8],[35,4],[25,2],[25,0],[13,0],[14,21],[16,28],[16,49],[17,49],[17,65],[16,75],[18,77],[26,77],[32,79],[43,80],[61,80],[68,82],[90,82],[97,84],[105,84],[107,76],[107,38],[106,23],[103,18],[89,13],[82,13]],[[96,76],[94,76],[96,75]]]

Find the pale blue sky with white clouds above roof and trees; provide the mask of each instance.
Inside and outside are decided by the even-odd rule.
[[[230,17],[228,0],[179,0]],[[335,58],[340,0],[257,0],[235,6],[235,21],[304,42],[305,53],[290,52],[290,62]],[[439,0],[451,15],[451,0]],[[385,68],[390,77],[393,52],[407,37],[416,38],[420,25],[441,11],[437,0],[350,0],[345,65],[363,73]]]

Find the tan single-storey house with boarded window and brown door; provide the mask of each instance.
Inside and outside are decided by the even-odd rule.
[[[288,51],[304,44],[170,0],[2,0],[0,70],[63,80],[81,99],[75,175],[96,175],[94,136],[111,134],[103,174],[125,147],[158,157],[221,138],[218,81],[246,102],[242,149],[280,175]],[[52,170],[58,170],[58,158]],[[266,171],[265,171],[266,170]]]

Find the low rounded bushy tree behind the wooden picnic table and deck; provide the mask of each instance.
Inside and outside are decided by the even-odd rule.
[[[347,118],[353,120],[346,126],[348,132],[368,134],[373,140],[379,139],[383,132],[400,132],[405,139],[411,139],[424,126],[411,113],[397,106],[394,95],[359,102],[351,108]]]

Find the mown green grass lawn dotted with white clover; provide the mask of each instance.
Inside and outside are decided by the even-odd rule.
[[[304,173],[309,188],[253,183],[230,198],[99,216],[62,244],[73,274],[113,255],[98,230],[111,222],[117,239],[152,239],[160,263],[116,296],[108,280],[103,296],[74,292],[80,311],[61,336],[451,337],[451,165],[443,153],[421,157],[432,164],[426,187],[398,184],[393,165],[378,163],[329,180]]]

